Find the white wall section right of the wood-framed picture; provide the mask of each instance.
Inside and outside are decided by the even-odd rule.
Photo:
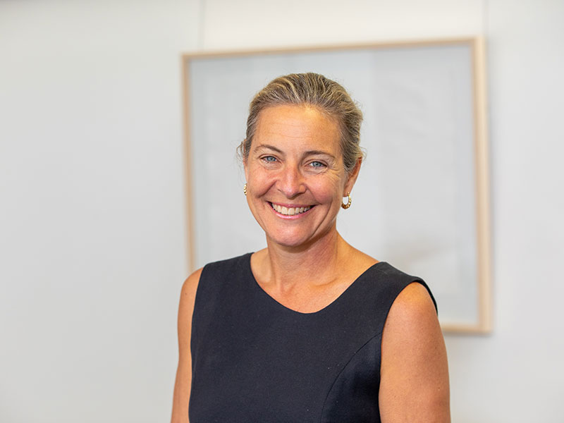
[[[494,333],[447,338],[455,422],[562,422],[564,2],[490,2]]]

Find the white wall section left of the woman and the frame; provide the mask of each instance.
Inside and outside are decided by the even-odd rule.
[[[161,422],[190,1],[0,2],[0,422]]]

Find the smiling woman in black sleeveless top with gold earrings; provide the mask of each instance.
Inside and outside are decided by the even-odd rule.
[[[427,286],[336,229],[361,121],[343,87],[314,73],[276,78],[252,100],[240,154],[267,247],[185,281],[173,422],[188,409],[192,423],[450,421]]]

